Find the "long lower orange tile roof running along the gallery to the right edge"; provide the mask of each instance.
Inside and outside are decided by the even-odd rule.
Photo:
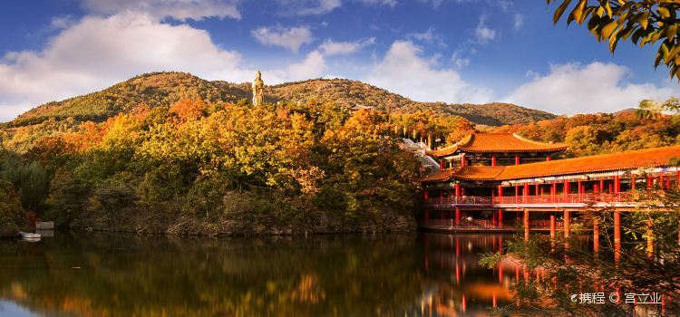
[[[663,167],[668,164],[668,160],[671,158],[680,158],[680,146],[640,149],[636,151],[602,154],[574,159],[555,159],[551,161],[505,167],[454,168],[450,169],[452,172],[449,174],[449,178],[463,180],[543,178],[643,167]],[[444,181],[449,178],[430,180],[430,178],[425,177],[421,181]]]

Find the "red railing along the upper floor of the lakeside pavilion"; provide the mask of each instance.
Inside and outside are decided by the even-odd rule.
[[[427,199],[426,205],[553,205],[553,204],[588,204],[588,203],[615,203],[627,201],[629,193],[617,194],[568,194],[568,195],[543,195],[543,196],[510,196],[510,197],[433,197]]]

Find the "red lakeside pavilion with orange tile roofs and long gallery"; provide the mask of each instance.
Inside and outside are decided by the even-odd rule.
[[[555,230],[592,207],[630,211],[631,192],[678,188],[680,146],[552,159],[567,149],[516,134],[471,134],[427,154],[440,170],[421,179],[419,225],[445,230]]]

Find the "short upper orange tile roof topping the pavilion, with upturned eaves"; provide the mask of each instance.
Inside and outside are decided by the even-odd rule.
[[[514,133],[472,133],[450,147],[436,149],[428,154],[435,158],[442,158],[458,150],[471,153],[519,153],[557,152],[567,148],[568,145],[564,143],[539,142]]]

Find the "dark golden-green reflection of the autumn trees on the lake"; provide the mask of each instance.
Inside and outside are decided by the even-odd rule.
[[[403,314],[422,293],[414,244],[413,235],[7,241],[0,295],[84,316]]]

